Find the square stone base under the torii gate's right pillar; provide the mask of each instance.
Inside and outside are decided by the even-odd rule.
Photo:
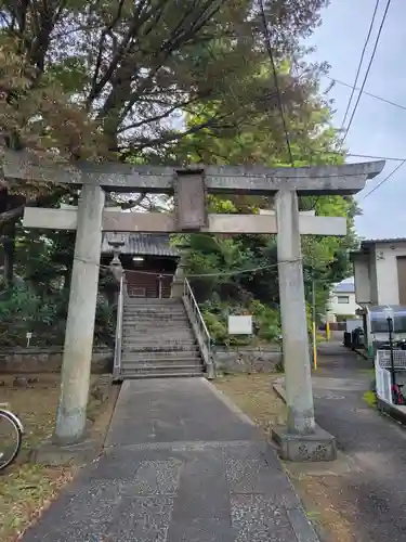
[[[279,456],[285,461],[316,462],[337,459],[336,437],[317,425],[310,435],[293,435],[286,427],[276,427],[272,429],[272,439],[278,446]]]

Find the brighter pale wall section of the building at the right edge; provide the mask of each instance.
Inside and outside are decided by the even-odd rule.
[[[375,266],[377,270],[378,305],[398,305],[397,256],[406,256],[406,243],[377,243]]]

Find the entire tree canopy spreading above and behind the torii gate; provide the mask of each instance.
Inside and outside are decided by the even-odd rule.
[[[340,164],[343,153],[331,124],[331,103],[318,88],[327,66],[306,63],[301,46],[327,3],[264,0],[275,75],[254,0],[0,0],[2,146],[28,150],[43,163],[289,167],[277,77],[294,166]],[[30,245],[18,221],[25,205],[57,206],[76,197],[75,191],[55,184],[9,186],[0,181],[0,235],[9,283],[14,267],[32,279],[39,260],[31,250],[39,247],[47,254],[42,270],[53,266],[56,274],[67,272],[71,238],[55,233],[43,244],[37,235]],[[121,203],[159,208],[159,201],[147,194]],[[223,212],[257,212],[272,201],[212,197],[210,205]],[[317,279],[328,285],[348,271],[343,255],[355,242],[354,203],[339,196],[305,197],[300,206],[348,217],[346,238],[303,241],[306,284]],[[261,305],[277,304],[273,236],[196,235],[188,243],[189,271],[219,275],[195,281],[201,300],[212,304],[218,296],[219,302],[251,308],[254,302],[265,327],[271,320],[276,325]],[[16,262],[15,245],[26,254]],[[261,269],[227,274],[247,266]],[[51,275],[47,287],[50,281]],[[327,286],[319,287],[320,305],[326,292]]]

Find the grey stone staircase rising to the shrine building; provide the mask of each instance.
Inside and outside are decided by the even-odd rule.
[[[182,300],[127,298],[121,378],[202,375],[199,347]]]

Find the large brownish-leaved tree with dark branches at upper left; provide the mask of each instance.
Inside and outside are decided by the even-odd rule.
[[[265,0],[276,55],[298,48],[326,3]],[[250,83],[266,54],[252,0],[1,0],[0,18],[0,132],[41,160],[143,159],[248,116],[270,91]],[[221,111],[184,126],[189,107],[213,102]],[[30,202],[48,190],[19,188]]]

